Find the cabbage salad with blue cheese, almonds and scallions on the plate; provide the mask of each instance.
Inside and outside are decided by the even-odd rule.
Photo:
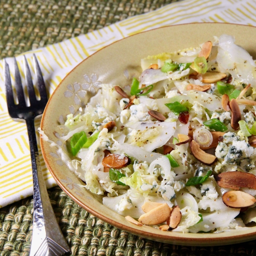
[[[141,60],[68,114],[58,148],[105,206],[139,226],[218,233],[256,222],[256,63],[230,35]],[[82,186],[82,185],[81,185]]]

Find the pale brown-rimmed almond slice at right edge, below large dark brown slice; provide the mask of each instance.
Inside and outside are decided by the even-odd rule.
[[[232,190],[224,193],[222,196],[222,201],[227,207],[230,208],[243,208],[249,207],[255,204],[256,199],[243,191]]]

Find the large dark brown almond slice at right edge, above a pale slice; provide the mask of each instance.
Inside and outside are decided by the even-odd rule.
[[[216,176],[216,181],[222,188],[256,189],[256,176],[248,172],[222,172]]]

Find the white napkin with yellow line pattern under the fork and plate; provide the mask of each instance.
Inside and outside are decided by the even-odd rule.
[[[26,52],[32,67],[32,53],[35,53],[50,93],[79,62],[119,39],[149,29],[181,23],[224,22],[256,26],[256,0],[184,0],[169,4],[144,15],[130,17],[87,35]],[[12,58],[8,58],[13,79]],[[22,56],[17,56],[20,70],[23,70]],[[3,61],[0,61],[3,68]],[[24,73],[21,72],[24,82]],[[35,75],[32,72],[33,78]],[[88,78],[90,79],[90,78]],[[35,122],[37,126],[40,120]],[[40,154],[41,157],[41,154]],[[47,188],[55,186],[41,157],[41,166]],[[32,172],[26,125],[10,119],[0,70],[0,207],[32,195]]]

